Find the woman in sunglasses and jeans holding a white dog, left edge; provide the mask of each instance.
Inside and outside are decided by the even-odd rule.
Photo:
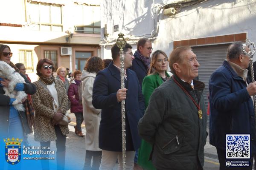
[[[18,73],[18,68],[11,62],[12,52],[8,45],[0,44],[0,60],[9,64]],[[22,76],[22,74],[21,74]],[[28,81],[25,76],[22,76],[26,83],[17,83],[15,86],[16,91],[24,91],[26,94],[34,94],[36,87],[34,84]],[[31,103],[24,98],[22,103],[26,112],[17,111],[12,102],[14,98],[4,95],[5,91],[3,87],[8,87],[9,80],[5,77],[0,79],[0,139],[14,137],[23,139],[24,133],[32,133],[32,125],[34,124],[34,112],[32,110]]]

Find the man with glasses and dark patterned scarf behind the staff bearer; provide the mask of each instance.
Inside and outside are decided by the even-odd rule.
[[[143,79],[148,74],[148,70],[150,68],[150,54],[152,53],[152,50],[151,42],[148,39],[141,38],[138,41],[137,51],[134,53],[134,60],[130,69],[137,74],[140,87],[142,87]]]

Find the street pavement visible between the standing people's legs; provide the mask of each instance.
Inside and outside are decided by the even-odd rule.
[[[69,124],[70,133],[67,135],[66,138],[66,170],[82,170],[85,159],[86,130],[83,122],[82,133],[84,133],[84,137],[77,136],[74,132],[76,117],[73,113],[70,114],[70,117],[72,118],[72,122]],[[209,124],[207,126],[207,131],[209,133]],[[33,134],[29,135],[28,140],[32,146],[40,146],[39,142],[35,142]],[[51,150],[56,150],[55,142],[51,142]],[[219,163],[216,148],[209,144],[209,136],[207,137],[207,143],[204,147],[204,152],[204,170],[218,170]],[[55,167],[52,167],[51,169],[54,170]],[[117,164],[114,170],[117,170]]]

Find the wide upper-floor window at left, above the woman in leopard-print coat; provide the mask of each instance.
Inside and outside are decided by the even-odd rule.
[[[34,30],[62,31],[61,5],[49,3],[28,3],[27,20]]]

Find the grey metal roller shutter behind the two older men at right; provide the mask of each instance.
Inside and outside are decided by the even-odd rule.
[[[213,71],[222,65],[227,56],[227,47],[230,44],[223,45],[207,45],[200,47],[192,47],[192,51],[196,54],[200,67],[198,69],[199,80],[204,82],[204,103],[208,107],[209,94],[209,78]]]

